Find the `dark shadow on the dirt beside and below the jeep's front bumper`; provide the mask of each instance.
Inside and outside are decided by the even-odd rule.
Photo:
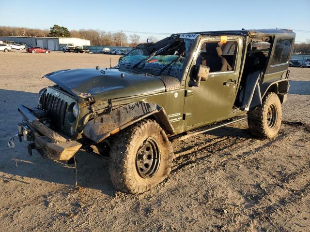
[[[27,178],[21,181],[14,177],[17,175],[74,187],[76,181],[74,164],[55,162],[35,151],[30,156],[27,152],[28,143],[19,143],[17,138],[14,152],[7,145],[9,138],[16,134],[18,123],[21,122],[17,106],[23,104],[33,107],[37,101],[37,93],[0,89],[0,172],[12,175],[8,177],[0,174],[0,178],[28,184]],[[79,187],[98,189],[110,196],[114,194],[115,189],[109,179],[106,160],[100,160],[84,151],[76,154],[76,160]]]

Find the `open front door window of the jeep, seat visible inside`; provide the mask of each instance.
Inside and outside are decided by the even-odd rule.
[[[210,73],[234,71],[237,42],[206,42],[202,44],[196,64],[210,68]]]

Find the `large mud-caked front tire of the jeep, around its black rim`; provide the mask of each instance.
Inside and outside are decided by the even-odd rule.
[[[155,173],[143,177],[141,170],[138,170],[137,163],[140,161],[137,160],[140,159],[141,149],[144,149],[149,140],[157,144],[159,163]],[[155,120],[143,119],[118,133],[111,144],[109,173],[112,183],[122,192],[131,194],[145,192],[170,174],[172,158],[173,148],[165,131]]]

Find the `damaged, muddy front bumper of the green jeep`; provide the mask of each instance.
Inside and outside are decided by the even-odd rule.
[[[72,141],[47,127],[33,110],[19,105],[18,111],[23,116],[23,123],[18,125],[18,135],[23,137],[25,141],[31,141],[32,149],[42,151],[42,149],[47,148],[47,150],[51,150],[47,154],[49,158],[69,160],[82,146],[77,141]]]

